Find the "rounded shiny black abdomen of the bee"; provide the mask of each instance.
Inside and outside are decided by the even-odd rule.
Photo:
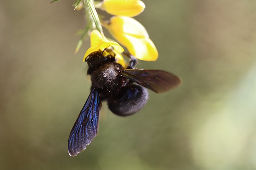
[[[116,115],[128,116],[139,111],[148,101],[148,90],[138,84],[120,89],[108,100],[108,108]]]

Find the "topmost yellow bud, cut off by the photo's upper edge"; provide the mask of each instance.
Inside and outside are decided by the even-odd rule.
[[[140,0],[104,0],[100,8],[112,15],[133,17],[144,11],[145,4]]]

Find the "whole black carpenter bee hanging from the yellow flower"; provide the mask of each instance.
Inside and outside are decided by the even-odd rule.
[[[114,114],[128,116],[146,104],[146,88],[162,93],[181,84],[180,79],[169,72],[136,69],[138,61],[130,54],[123,54],[130,58],[128,66],[124,68],[116,62],[113,49],[109,47],[104,51],[98,50],[86,58],[87,74],[91,77],[92,86],[90,95],[69,135],[70,156],[76,156],[86,149],[86,145],[89,145],[98,134],[102,101],[107,101],[108,108]]]

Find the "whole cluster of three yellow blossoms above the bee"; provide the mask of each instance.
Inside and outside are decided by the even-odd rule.
[[[144,11],[145,5],[142,1],[104,0],[94,6],[114,15],[109,21],[100,20],[100,23],[116,41],[127,48],[131,55],[144,61],[155,61],[158,58],[157,49],[149,38],[146,29],[141,23],[131,18]],[[86,51],[83,61],[85,61],[90,53],[99,49],[103,51],[109,46],[113,47],[116,54],[124,51],[118,43],[106,39],[103,32],[99,29],[93,30],[90,37],[91,47]],[[124,63],[121,55],[116,55],[116,58],[119,63]]]

